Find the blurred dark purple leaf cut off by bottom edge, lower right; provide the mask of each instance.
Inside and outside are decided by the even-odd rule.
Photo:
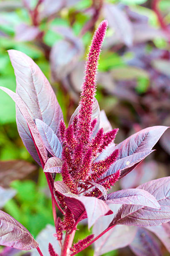
[[[160,246],[156,239],[144,228],[138,228],[130,249],[137,256],[161,256]]]

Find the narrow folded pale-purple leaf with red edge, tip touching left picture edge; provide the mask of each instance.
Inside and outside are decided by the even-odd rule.
[[[37,126],[35,125],[30,114],[28,113],[28,109],[25,106],[23,100],[20,98],[20,96],[18,94],[16,94],[15,92],[13,92],[5,87],[0,87],[0,89],[3,90],[4,92],[6,92],[15,101],[16,105],[18,106],[18,113],[20,113],[20,116],[22,117],[22,121],[24,120],[26,125],[30,128],[32,137],[34,138],[34,141],[35,141],[36,146],[40,152],[40,155],[41,155],[43,161],[46,163],[47,151],[45,149],[44,143],[42,142],[42,138],[40,137]],[[30,143],[30,141],[31,141],[31,143]],[[33,154],[34,151],[32,151],[32,147],[35,148],[35,146],[34,146],[34,143],[32,142],[32,138],[30,140],[30,136],[29,136],[29,138],[28,137],[26,138],[25,143],[27,145],[27,149],[29,148],[29,150],[30,150],[30,154],[32,156],[35,156]],[[37,158],[35,158],[35,159],[37,160],[38,163],[40,162],[38,155],[37,155]]]

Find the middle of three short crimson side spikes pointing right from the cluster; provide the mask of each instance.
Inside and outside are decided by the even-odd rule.
[[[116,161],[118,154],[119,150],[115,149],[115,151],[113,151],[110,156],[107,156],[106,159],[92,164],[91,177],[94,181],[100,178],[110,168]]]

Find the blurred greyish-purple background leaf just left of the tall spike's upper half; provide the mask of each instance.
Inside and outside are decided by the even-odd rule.
[[[63,28],[66,29],[66,28]],[[68,33],[68,38],[57,41],[50,51],[52,79],[61,80],[69,74],[82,54],[82,41]]]

